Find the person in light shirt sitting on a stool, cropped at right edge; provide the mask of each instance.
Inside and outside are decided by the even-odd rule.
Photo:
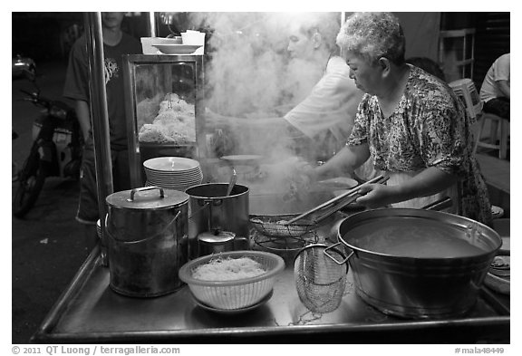
[[[480,87],[480,99],[485,112],[510,120],[510,53],[502,54],[491,65]]]

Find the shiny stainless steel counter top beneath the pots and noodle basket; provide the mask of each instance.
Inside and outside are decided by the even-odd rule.
[[[99,255],[96,247],[32,342],[509,342],[509,310],[487,289],[466,317],[401,320],[363,303],[349,274],[341,306],[333,313],[312,315],[299,301],[293,265],[288,264],[266,304],[247,313],[223,314],[199,307],[186,286],[150,299],[115,293]]]

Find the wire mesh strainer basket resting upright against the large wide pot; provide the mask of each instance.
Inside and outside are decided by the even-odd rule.
[[[295,256],[295,287],[310,312],[330,313],[339,307],[348,273],[345,261],[341,251],[323,244],[307,245]]]

